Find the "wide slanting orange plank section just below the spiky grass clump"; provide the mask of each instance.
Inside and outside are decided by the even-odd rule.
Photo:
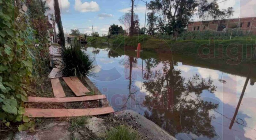
[[[76,96],[85,96],[85,93],[90,92],[78,79],[78,77],[63,77],[63,79],[67,83],[68,87],[75,93]]]

